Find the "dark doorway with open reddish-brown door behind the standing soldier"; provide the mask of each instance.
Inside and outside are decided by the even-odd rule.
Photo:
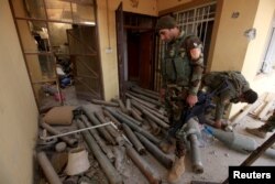
[[[132,85],[154,87],[154,25],[156,18],[117,9],[120,96]]]

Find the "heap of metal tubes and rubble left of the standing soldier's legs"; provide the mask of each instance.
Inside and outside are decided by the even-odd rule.
[[[157,93],[131,87],[124,100],[92,99],[90,105],[64,108],[58,109],[63,111],[59,116],[66,115],[67,120],[57,111],[51,123],[51,110],[40,120],[36,159],[41,181],[127,183],[131,177],[127,164],[133,164],[147,183],[162,183],[157,170],[144,159],[151,154],[167,170],[175,159],[174,151],[164,153],[160,148],[169,123]],[[66,123],[58,125],[56,119]]]

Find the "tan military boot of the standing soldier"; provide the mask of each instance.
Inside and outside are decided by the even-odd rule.
[[[179,181],[182,175],[185,173],[185,156],[176,158],[169,173],[167,181],[169,183],[176,183]]]

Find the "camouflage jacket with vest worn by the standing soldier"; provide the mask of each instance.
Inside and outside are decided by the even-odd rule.
[[[176,85],[188,89],[188,94],[197,95],[204,72],[204,54],[196,61],[191,59],[189,51],[202,44],[197,36],[186,36],[184,32],[175,41],[167,44],[165,57],[162,61],[163,88]]]

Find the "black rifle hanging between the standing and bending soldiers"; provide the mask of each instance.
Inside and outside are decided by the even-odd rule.
[[[198,102],[194,107],[186,105],[183,108],[180,119],[176,122],[173,122],[172,127],[168,129],[168,137],[175,137],[178,129],[180,129],[190,118],[198,117],[200,123],[205,122],[205,111],[208,108],[211,108],[212,97],[221,94],[223,90],[228,89],[228,79],[224,79],[218,88],[211,93],[198,93]]]

